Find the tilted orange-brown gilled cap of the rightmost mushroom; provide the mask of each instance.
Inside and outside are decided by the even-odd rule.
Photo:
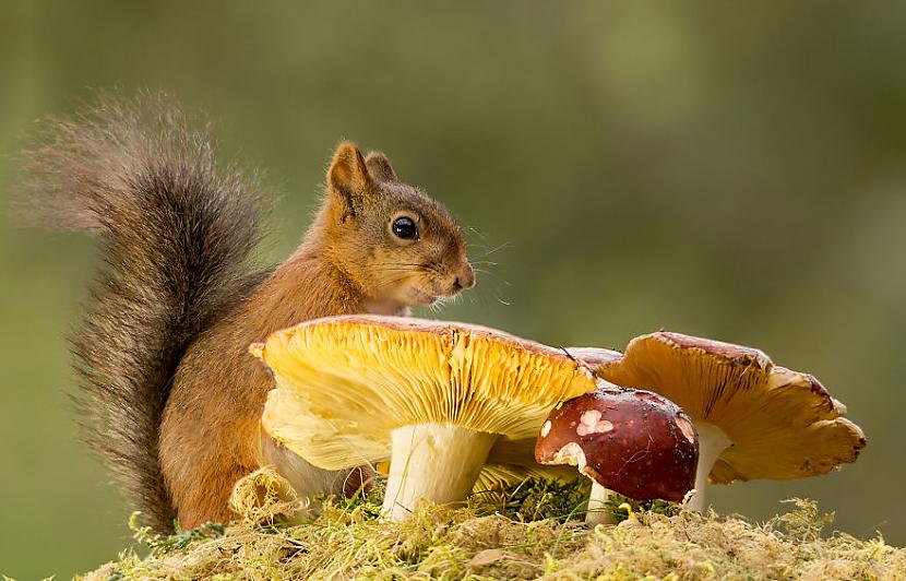
[[[711,483],[824,474],[866,446],[813,376],[775,366],[755,348],[660,331],[633,339],[622,358],[586,361],[603,379],[660,393],[694,422],[720,428],[732,444]]]

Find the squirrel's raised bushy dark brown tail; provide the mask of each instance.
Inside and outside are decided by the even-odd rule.
[[[217,170],[203,133],[171,99],[104,97],[53,121],[23,156],[26,212],[96,230],[106,269],[72,333],[85,436],[145,519],[171,531],[158,436],[174,374],[246,274],[262,201],[253,181]]]

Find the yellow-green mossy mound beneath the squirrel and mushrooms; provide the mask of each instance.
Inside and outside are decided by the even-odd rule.
[[[259,475],[259,484],[266,475]],[[904,579],[906,549],[880,536],[822,536],[831,515],[796,500],[766,523],[658,505],[623,506],[616,526],[587,530],[581,485],[525,483],[468,508],[429,507],[382,522],[374,498],[325,503],[303,523],[290,505],[237,488],[245,519],[128,549],[84,579]]]

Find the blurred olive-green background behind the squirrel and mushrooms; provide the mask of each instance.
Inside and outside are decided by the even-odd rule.
[[[440,316],[551,344],[658,328],[815,374],[865,428],[791,496],[906,544],[906,4],[20,2],[0,7],[0,202],[35,121],[96,88],[176,94],[282,195],[295,246],[332,147],[382,149],[467,225],[478,287]],[[0,218],[0,572],[116,555],[129,508],[75,439],[64,333],[99,257]]]

